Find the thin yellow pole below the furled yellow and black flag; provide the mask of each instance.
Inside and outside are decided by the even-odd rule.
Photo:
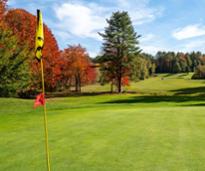
[[[45,96],[45,85],[44,85],[44,72],[43,72],[43,60],[41,59],[41,77],[42,77],[42,91]],[[47,121],[47,111],[46,103],[44,104],[44,130],[45,130],[45,148],[46,148],[46,160],[47,160],[47,169],[51,170],[50,167],[50,155],[49,155],[49,146],[48,146],[48,121]]]

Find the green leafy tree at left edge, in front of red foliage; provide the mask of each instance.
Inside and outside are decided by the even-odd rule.
[[[27,86],[29,72],[26,60],[28,48],[18,45],[11,31],[0,27],[0,96],[15,95]]]

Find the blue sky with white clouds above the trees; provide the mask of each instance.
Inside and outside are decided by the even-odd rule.
[[[9,0],[8,5],[32,14],[41,9],[60,49],[80,43],[91,57],[101,51],[97,32],[117,10],[128,11],[144,52],[205,52],[205,0]]]

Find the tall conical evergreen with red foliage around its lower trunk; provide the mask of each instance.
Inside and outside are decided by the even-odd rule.
[[[103,37],[102,67],[110,72],[117,82],[117,89],[122,91],[122,78],[128,76],[132,59],[139,53],[139,35],[134,31],[127,12],[115,12],[107,20],[108,27]]]

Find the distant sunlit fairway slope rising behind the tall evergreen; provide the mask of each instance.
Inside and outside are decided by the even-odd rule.
[[[205,80],[191,80],[193,73],[189,74],[158,74],[139,82],[132,82],[124,88],[125,91],[139,94],[174,95],[179,91],[189,95],[197,95],[205,87]],[[190,91],[189,91],[190,90]],[[83,92],[109,92],[110,86],[99,84],[83,87]],[[184,92],[183,92],[184,91]],[[185,94],[187,94],[185,93]]]

